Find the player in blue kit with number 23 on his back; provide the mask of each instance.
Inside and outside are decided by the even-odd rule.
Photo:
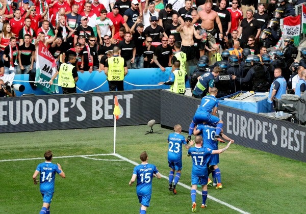
[[[182,172],[182,150],[183,145],[186,149],[189,149],[192,145],[187,145],[187,141],[183,135],[181,135],[182,126],[177,124],[174,126],[174,133],[170,133],[168,136],[168,164],[170,167],[169,173],[169,191],[172,191],[174,195],[176,195],[175,186],[177,182],[179,182],[181,178]],[[176,175],[174,178],[174,172],[176,171]],[[174,178],[174,183],[172,186],[172,181]]]

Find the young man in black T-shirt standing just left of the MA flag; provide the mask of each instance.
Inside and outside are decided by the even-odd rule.
[[[24,35],[24,42],[18,49],[18,61],[21,73],[29,73],[33,69],[35,45],[31,43],[31,36]]]

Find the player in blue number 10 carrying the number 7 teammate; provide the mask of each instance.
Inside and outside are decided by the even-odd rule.
[[[212,150],[218,149],[218,141],[215,140],[216,135],[216,125],[214,124],[198,124],[196,129],[193,131],[194,135],[200,135],[203,138],[203,147],[210,148]],[[220,136],[227,141],[231,141],[234,143],[234,140],[228,138],[224,135],[223,130],[220,132]],[[219,164],[219,154],[212,154],[211,158],[208,162],[208,176],[210,172],[213,175],[214,185],[216,185],[216,189],[222,189],[221,182],[221,171],[218,167]],[[208,185],[211,184],[212,181],[208,178]]]

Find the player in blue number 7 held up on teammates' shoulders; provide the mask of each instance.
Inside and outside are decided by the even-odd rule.
[[[216,124],[216,135],[215,139],[220,139],[220,132],[223,126],[223,121],[216,117],[216,113],[219,106],[219,101],[216,98],[218,93],[218,89],[213,87],[211,88],[210,95],[205,96],[201,99],[201,103],[196,110],[194,117],[189,126],[188,138],[187,142],[191,140],[191,135],[193,133],[193,129],[195,124],[197,123],[211,123]]]

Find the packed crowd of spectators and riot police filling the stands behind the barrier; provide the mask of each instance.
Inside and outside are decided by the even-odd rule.
[[[209,75],[216,82],[218,96],[239,90],[268,91],[276,67],[282,69],[289,89],[295,90],[291,75],[298,66],[306,66],[305,49],[301,50],[302,60],[294,66],[298,50],[292,38],[285,38],[282,50],[269,57],[265,53],[282,37],[280,19],[295,16],[293,5],[303,2],[1,0],[0,76],[12,72],[35,76],[35,53],[38,41],[42,41],[56,59],[58,70],[74,55],[77,71],[105,71],[115,46],[128,69],[159,67],[164,71],[173,65],[172,70],[180,69],[186,75],[185,62],[199,59],[196,76],[191,77],[196,97],[214,86],[211,79],[201,76],[214,67],[221,68]],[[204,55],[207,52],[215,53],[219,62],[210,67]],[[178,67],[174,67],[175,61],[180,62]],[[225,73],[227,77],[220,79]],[[164,84],[184,94],[173,86],[178,84],[173,75]]]

